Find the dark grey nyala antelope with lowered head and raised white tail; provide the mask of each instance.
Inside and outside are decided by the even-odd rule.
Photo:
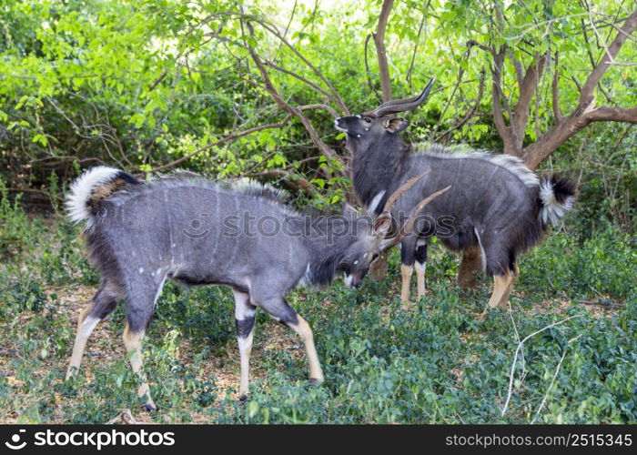
[[[399,188],[388,207],[417,180]],[[421,201],[417,210],[443,191]],[[94,167],[73,184],[67,205],[74,221],[86,220],[89,257],[102,280],[80,313],[66,377],[79,369],[97,323],[124,300],[124,344],[141,378],[138,395],[147,410],[156,407],[142,372],[141,341],[167,278],[232,288],[239,396],[245,397],[256,308],[298,333],[305,343],[309,378],[321,383],[312,330],[290,308],[286,293],[301,281],[327,285],[340,273],[349,287],[358,287],[379,253],[406,235],[404,230],[394,233],[389,213],[305,217],[286,207],[271,187],[217,184],[190,174],[142,183],[123,171]]]

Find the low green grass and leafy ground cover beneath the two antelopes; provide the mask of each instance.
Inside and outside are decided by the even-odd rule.
[[[79,228],[2,209],[4,423],[104,423],[123,409],[167,423],[637,422],[637,259],[619,231],[551,233],[522,258],[511,309],[483,323],[488,280],[461,295],[458,258],[442,248],[432,248],[428,295],[412,311],[399,309],[398,255],[382,283],[295,290],[289,300],[314,329],[326,383],[308,384],[300,340],[258,313],[246,403],[230,292],[168,284],[144,344],[159,406],[151,414],[136,399],[121,308],[93,333],[79,376],[64,381],[77,314],[98,282]],[[524,343],[502,415],[520,339],[570,317]]]

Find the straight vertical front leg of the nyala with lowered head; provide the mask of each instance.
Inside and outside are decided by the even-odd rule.
[[[250,304],[249,295],[232,289],[235,296],[235,322],[237,324],[237,340],[239,356],[241,359],[239,379],[239,399],[248,398],[250,353],[252,352],[252,339],[254,338],[256,308]]]

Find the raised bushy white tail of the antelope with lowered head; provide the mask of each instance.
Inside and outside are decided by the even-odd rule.
[[[96,215],[99,201],[120,187],[139,183],[135,177],[114,167],[91,167],[71,185],[71,194],[66,198],[68,216],[76,223],[90,220]]]

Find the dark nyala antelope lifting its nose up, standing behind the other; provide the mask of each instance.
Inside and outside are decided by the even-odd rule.
[[[556,223],[571,209],[574,187],[554,176],[539,180],[517,157],[406,144],[399,133],[409,123],[392,115],[420,106],[431,83],[420,96],[335,120],[336,128],[347,134],[354,192],[371,213],[380,213],[394,188],[430,168],[431,176],[394,207],[396,216],[414,207],[431,188],[453,185],[423,210],[429,221],[417,225],[417,231],[402,241],[402,305],[409,306],[414,264],[418,297],[424,294],[427,238],[437,235],[451,250],[480,252],[483,270],[494,277],[489,307],[503,306],[519,274],[518,256],[540,243],[549,221]]]

